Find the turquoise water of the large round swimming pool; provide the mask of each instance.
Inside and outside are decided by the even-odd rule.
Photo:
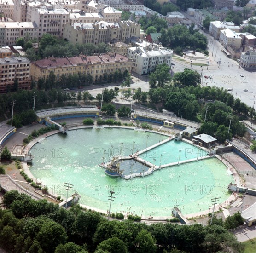
[[[131,180],[108,177],[99,167],[103,157],[106,162],[111,159],[111,153],[130,155],[133,145],[134,149],[142,150],[146,141],[148,147],[156,144],[159,135],[120,128],[79,129],[69,131],[68,135],[55,134],[35,144],[31,150],[34,159],[30,170],[47,185],[50,193],[65,198],[63,183],[74,184],[72,190],[81,195],[81,204],[105,211],[109,208],[109,190],[114,190],[116,199],[111,211],[115,213],[170,216],[177,205],[184,214],[196,213],[207,210],[213,197],[221,197],[222,202],[230,195],[226,189],[233,177],[216,158],[164,168]],[[156,148],[156,154],[166,152],[162,164],[163,159],[166,159],[164,163],[169,158],[177,159],[179,153],[182,161],[187,157],[179,150],[191,148],[194,149],[189,144],[171,141],[165,147]],[[157,164],[160,158],[155,157]]]

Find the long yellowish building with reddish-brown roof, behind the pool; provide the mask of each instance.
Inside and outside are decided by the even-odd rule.
[[[116,70],[131,71],[132,60],[117,53],[101,55],[55,58],[49,57],[31,63],[30,75],[37,81],[39,77],[47,78],[51,71],[60,77],[61,75],[81,74],[92,75],[96,82],[100,76],[109,75]]]

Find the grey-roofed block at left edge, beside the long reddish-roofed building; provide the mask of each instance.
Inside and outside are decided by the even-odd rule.
[[[0,93],[12,90],[15,79],[19,89],[30,88],[30,62],[25,57],[5,57],[0,59]]]

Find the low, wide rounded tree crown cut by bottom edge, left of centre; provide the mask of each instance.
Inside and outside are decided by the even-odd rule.
[[[127,247],[125,243],[117,237],[109,238],[97,246],[97,249],[102,249],[109,253],[126,253]]]

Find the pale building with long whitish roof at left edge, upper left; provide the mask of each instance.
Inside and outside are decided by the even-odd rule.
[[[0,46],[16,45],[16,40],[25,36],[38,39],[35,22],[0,22],[0,27]]]

